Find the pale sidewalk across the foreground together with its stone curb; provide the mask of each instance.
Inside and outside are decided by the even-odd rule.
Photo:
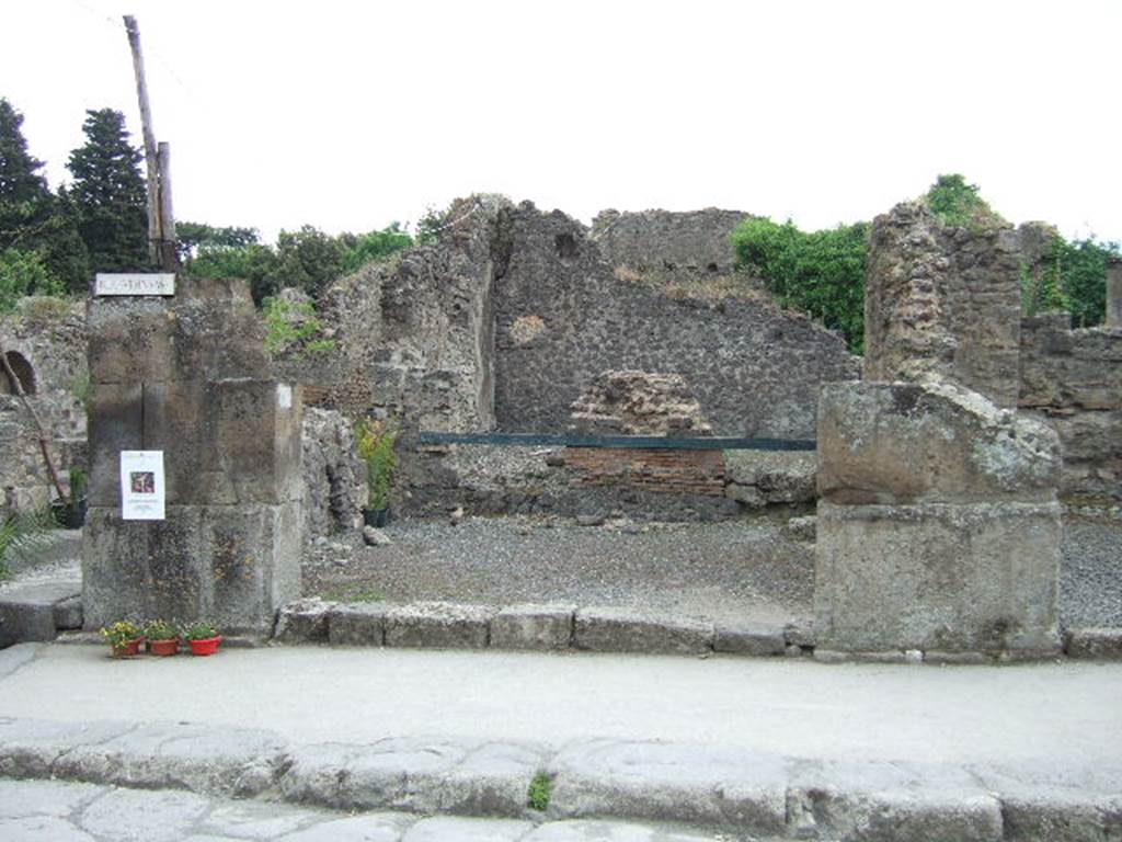
[[[534,833],[608,817],[703,838],[1075,842],[1122,829],[1120,697],[1122,665],[1097,662],[329,647],[121,661],[25,644],[0,652],[0,777]],[[656,839],[620,833],[605,838]]]

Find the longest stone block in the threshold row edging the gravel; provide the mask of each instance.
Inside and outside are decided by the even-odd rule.
[[[581,608],[573,626],[573,646],[596,652],[693,655],[710,651],[712,640],[712,623],[707,621],[626,607]]]

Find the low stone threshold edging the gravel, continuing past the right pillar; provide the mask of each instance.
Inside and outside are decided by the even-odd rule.
[[[318,597],[280,608],[273,642],[422,649],[629,652],[707,657],[812,657],[825,662],[1003,663],[1055,658],[1055,652],[896,650],[838,652],[816,648],[806,622],[727,622],[623,606],[487,605],[417,602],[338,603]],[[1070,629],[1069,658],[1122,660],[1122,629]]]

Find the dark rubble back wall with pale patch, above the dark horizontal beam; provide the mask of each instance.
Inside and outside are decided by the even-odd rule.
[[[763,300],[677,299],[618,281],[580,222],[532,204],[509,219],[496,276],[495,412],[512,431],[561,431],[608,369],[681,375],[717,434],[813,436],[821,383],[850,379],[843,340]]]

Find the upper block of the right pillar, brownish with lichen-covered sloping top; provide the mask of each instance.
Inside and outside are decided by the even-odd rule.
[[[1049,502],[1059,485],[1054,430],[940,383],[822,386],[818,454],[833,503]]]

